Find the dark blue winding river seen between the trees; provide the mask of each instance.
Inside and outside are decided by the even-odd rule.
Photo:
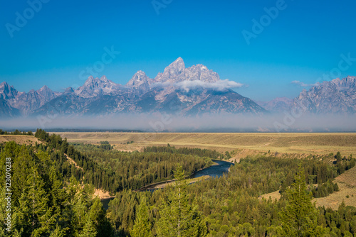
[[[197,178],[197,177],[201,177],[204,175],[209,175],[211,177],[221,177],[221,175],[223,175],[224,173],[229,172],[229,168],[231,165],[234,165],[234,163],[223,161],[223,160],[212,160],[212,161],[215,162],[217,165],[211,165],[210,167],[207,167],[203,170],[199,170],[199,171],[195,172],[193,175],[191,175],[189,178],[192,179],[192,178]],[[167,181],[167,182],[169,182],[169,181]],[[166,183],[166,182],[162,182],[162,183]],[[140,189],[140,191],[150,190],[153,192],[153,191],[155,191],[155,189],[150,188],[152,186],[153,185],[146,186],[145,188]],[[108,204],[112,199],[114,199],[114,197],[112,197],[110,199],[101,199],[101,202],[103,203],[103,207],[105,210],[108,209]]]

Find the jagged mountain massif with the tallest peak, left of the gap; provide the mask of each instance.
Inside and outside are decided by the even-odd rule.
[[[216,72],[204,65],[186,68],[179,57],[155,78],[138,71],[125,86],[105,76],[90,76],[78,89],[68,87],[60,93],[44,86],[25,93],[3,82],[0,84],[0,116],[128,112],[194,116],[266,112],[251,99],[231,89],[238,86],[236,82],[221,80]]]

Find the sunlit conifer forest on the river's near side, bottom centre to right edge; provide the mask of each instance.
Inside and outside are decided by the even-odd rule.
[[[228,175],[187,185],[184,202],[196,211],[195,224],[204,220],[206,233],[203,231],[200,236],[353,236],[355,207],[342,204],[333,211],[316,208],[311,202],[313,184],[328,183],[337,175],[336,165],[327,165],[319,158],[246,158],[231,166]],[[262,194],[280,190],[283,184],[286,187],[281,199],[261,199]],[[118,193],[108,209],[117,236],[177,234],[167,232],[169,228],[166,232],[159,230],[162,223],[169,226],[170,221],[159,220],[171,213],[166,206],[167,200],[172,204],[174,193],[174,186],[153,193]],[[204,229],[200,224],[196,231]],[[145,235],[135,231],[138,226],[145,226]]]

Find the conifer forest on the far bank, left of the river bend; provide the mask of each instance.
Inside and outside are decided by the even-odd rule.
[[[188,152],[183,149],[174,153],[129,153],[112,150],[112,146],[105,141],[99,147],[83,143],[72,145],[66,138],[62,139],[54,133],[50,135],[42,129],[37,129],[35,137],[46,142],[36,143],[36,148],[46,150],[51,155],[63,177],[68,180],[73,175],[84,184],[93,184],[95,188],[111,194],[123,189],[139,189],[147,184],[170,180],[178,165],[182,165],[187,174],[212,165],[209,157],[195,155],[197,152],[194,149]],[[68,164],[66,155],[81,169]]]

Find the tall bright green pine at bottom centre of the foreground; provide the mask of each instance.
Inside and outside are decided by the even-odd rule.
[[[167,200],[159,207],[160,218],[157,221],[157,236],[206,236],[206,225],[201,220],[197,206],[189,205],[187,181],[184,180],[182,166],[177,168],[177,179]]]

